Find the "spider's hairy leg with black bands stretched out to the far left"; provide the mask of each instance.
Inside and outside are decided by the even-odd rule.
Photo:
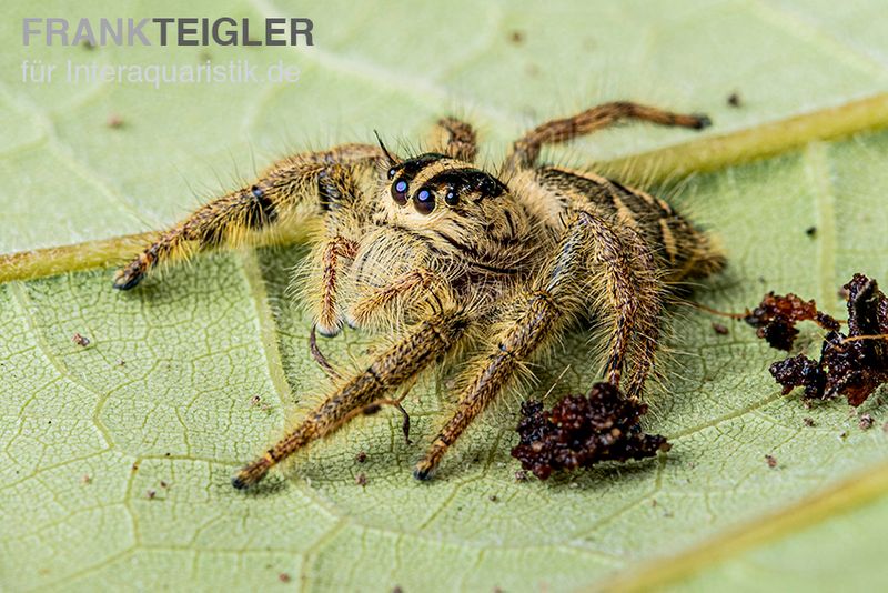
[[[114,288],[129,290],[152,268],[193,251],[235,245],[261,231],[319,217],[335,201],[354,199],[361,181],[376,174],[376,162],[383,157],[377,147],[343,144],[283,159],[252,184],[209,202],[161,232],[118,271]],[[342,182],[334,187],[332,178]]]

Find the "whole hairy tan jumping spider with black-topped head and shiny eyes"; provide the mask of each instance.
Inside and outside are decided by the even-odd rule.
[[[435,149],[410,158],[382,141],[287,157],[251,185],[198,209],[114,278],[129,290],[159,263],[320,220],[306,294],[316,329],[387,330],[394,345],[232,480],[270,468],[435,364],[463,361],[456,411],[414,476],[430,478],[475,416],[545,348],[583,320],[609,330],[608,382],[638,398],[652,372],[664,299],[723,268],[702,231],[669,204],[591,172],[537,165],[541,148],[635,119],[699,130],[704,115],[606,103],[544,123],[496,174],[473,164],[475,131],[437,123]],[[403,395],[402,395],[403,396]]]

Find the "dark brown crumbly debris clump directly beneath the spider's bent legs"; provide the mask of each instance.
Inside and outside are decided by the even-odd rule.
[[[665,436],[642,432],[647,405],[624,398],[610,383],[596,383],[588,398],[568,395],[552,410],[524,402],[518,445],[512,456],[541,480],[556,470],[589,468],[601,461],[638,460],[668,451]]]

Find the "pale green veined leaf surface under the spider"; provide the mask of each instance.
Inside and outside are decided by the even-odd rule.
[[[676,308],[665,376],[647,394],[646,428],[673,442],[657,460],[518,482],[508,451],[524,393],[511,393],[436,480],[416,483],[411,464],[453,406],[446,380],[432,376],[408,402],[416,444],[384,411],[244,495],[232,472],[326,389],[287,292],[305,248],[200,257],[133,293],[112,291],[111,270],[95,268],[132,253],[124,235],[252,177],[253,158],[370,140],[373,129],[416,145],[455,109],[478,122],[493,161],[528,125],[628,98],[704,111],[716,125],[702,135],[625,127],[549,157],[608,161],[626,179],[699,171],[660,188],[722,238],[730,261],[697,299],[741,311],[768,290],[795,291],[841,314],[836,291],[852,272],[888,283],[888,132],[877,130],[888,122],[888,42],[875,3],[837,13],[791,1],[223,2],[202,14],[306,16],[317,47],[165,52],[22,48],[30,10],[9,7],[0,23],[11,48],[0,69],[4,589],[248,590],[286,579],[310,590],[777,589],[881,572],[864,563],[878,561],[875,527],[888,523],[886,404],[806,410],[767,373],[779,354],[740,324],[718,335],[710,316]],[[44,8],[71,19],[115,10]],[[261,68],[280,59],[302,79],[154,90],[17,78],[23,59],[182,64],[202,51]],[[741,107],[727,104],[731,92]],[[108,127],[113,115],[122,127]],[[554,400],[594,381],[585,340],[557,349],[529,391],[554,384]],[[346,368],[374,344],[354,332],[323,342]],[[864,412],[875,429],[858,428]]]

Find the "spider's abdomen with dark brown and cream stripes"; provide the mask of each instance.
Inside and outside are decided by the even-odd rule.
[[[706,277],[725,264],[712,239],[659,198],[595,173],[558,168],[537,170],[536,182],[554,202],[549,217],[592,208],[634,228],[650,245],[668,281]]]

